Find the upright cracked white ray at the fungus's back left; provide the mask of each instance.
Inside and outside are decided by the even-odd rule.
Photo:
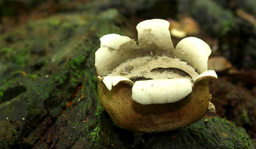
[[[107,34],[100,41],[100,48],[95,52],[95,67],[99,76],[105,76],[119,63],[135,57],[134,51],[138,48],[134,40],[119,34]]]

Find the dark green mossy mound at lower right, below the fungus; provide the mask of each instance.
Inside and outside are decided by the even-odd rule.
[[[167,146],[191,149],[250,149],[252,143],[244,129],[236,128],[234,123],[217,117],[209,118],[208,122],[204,120],[205,118],[176,131],[154,134],[146,146],[149,149],[156,149],[157,146],[159,149]],[[154,145],[156,142],[158,145]]]

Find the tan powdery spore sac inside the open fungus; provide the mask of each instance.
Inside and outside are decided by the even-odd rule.
[[[126,60],[107,76],[122,76],[130,80],[186,78],[192,83],[198,73],[185,61],[167,56],[145,56]]]

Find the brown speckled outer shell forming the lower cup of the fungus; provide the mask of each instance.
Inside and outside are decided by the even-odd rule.
[[[163,132],[189,126],[200,120],[209,105],[208,78],[193,86],[192,92],[180,101],[142,105],[131,98],[132,86],[119,82],[109,91],[98,80],[102,106],[122,128],[134,132]]]

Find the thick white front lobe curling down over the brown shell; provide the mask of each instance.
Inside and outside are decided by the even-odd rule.
[[[143,105],[174,103],[191,92],[192,84],[188,79],[143,80],[134,83],[132,99]]]

